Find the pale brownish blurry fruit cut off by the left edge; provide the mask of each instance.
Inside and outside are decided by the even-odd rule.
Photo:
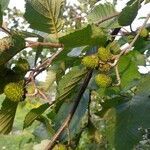
[[[0,39],[0,52],[8,50],[11,46],[13,46],[13,41],[11,37],[4,37]]]

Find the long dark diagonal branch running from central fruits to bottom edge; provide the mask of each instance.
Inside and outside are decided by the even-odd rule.
[[[93,73],[93,70],[90,70],[86,77],[85,77],[85,80],[79,90],[79,93],[74,101],[74,105],[70,111],[70,113],[68,114],[68,116],[66,117],[66,119],[64,120],[63,124],[61,125],[61,127],[58,129],[58,131],[56,132],[56,134],[52,137],[51,141],[49,142],[49,144],[47,145],[47,147],[45,148],[45,150],[51,150],[54,143],[56,142],[56,140],[59,138],[60,134],[67,128],[67,126],[69,125],[77,107],[78,107],[78,104],[82,98],[82,95],[83,93],[85,92],[86,90],[86,87],[92,77],[92,73]]]

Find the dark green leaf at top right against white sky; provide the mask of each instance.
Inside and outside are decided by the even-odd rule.
[[[139,4],[139,0],[134,0],[128,3],[128,5],[122,10],[118,18],[118,22],[121,26],[128,26],[133,22],[137,16]]]

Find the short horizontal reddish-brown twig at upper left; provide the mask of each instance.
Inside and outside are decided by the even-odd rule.
[[[53,47],[53,48],[63,48],[64,45],[61,43],[50,43],[50,42],[32,42],[32,41],[27,41],[28,45],[26,48],[31,47],[38,47],[38,46],[44,46],[44,47]]]

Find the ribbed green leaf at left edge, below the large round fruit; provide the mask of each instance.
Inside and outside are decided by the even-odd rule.
[[[8,134],[12,130],[18,103],[5,99],[0,110],[0,134]]]

